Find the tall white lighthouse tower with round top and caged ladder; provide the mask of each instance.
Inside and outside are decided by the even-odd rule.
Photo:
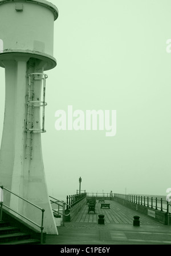
[[[44,208],[47,234],[58,234],[41,147],[41,135],[46,132],[46,70],[56,66],[53,48],[57,18],[58,9],[48,1],[0,0],[0,66],[5,68],[0,184]],[[38,210],[17,196],[4,193],[4,203],[40,223]]]

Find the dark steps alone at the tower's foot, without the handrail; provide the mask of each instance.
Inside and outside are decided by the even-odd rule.
[[[11,227],[7,222],[0,222],[0,245],[33,245],[40,244],[30,234],[22,233],[18,227]]]

